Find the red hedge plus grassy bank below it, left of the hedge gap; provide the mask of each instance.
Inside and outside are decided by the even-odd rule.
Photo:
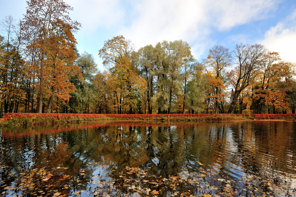
[[[41,125],[62,122],[90,122],[100,120],[133,121],[229,121],[245,120],[241,114],[4,114],[1,126]]]

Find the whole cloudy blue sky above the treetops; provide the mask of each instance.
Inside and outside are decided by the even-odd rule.
[[[22,19],[25,0],[0,0],[0,19]],[[104,70],[98,50],[117,35],[135,49],[163,40],[186,41],[195,59],[207,57],[214,45],[230,50],[236,44],[261,43],[281,59],[296,62],[296,0],[66,0],[72,20],[81,23],[75,33],[79,53],[94,55]]]

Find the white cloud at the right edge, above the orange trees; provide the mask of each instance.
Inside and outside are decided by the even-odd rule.
[[[279,52],[282,60],[296,62],[296,10],[270,28],[260,43],[265,44],[270,51]]]

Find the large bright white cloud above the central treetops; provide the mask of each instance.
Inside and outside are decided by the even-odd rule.
[[[210,33],[268,17],[277,4],[274,0],[137,1],[130,10],[135,16],[131,25],[120,28],[118,34],[137,47],[183,39],[199,59],[213,45]]]

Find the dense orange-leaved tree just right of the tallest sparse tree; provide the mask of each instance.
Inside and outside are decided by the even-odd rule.
[[[56,27],[55,25],[59,25]],[[63,103],[69,100],[70,93],[75,91],[75,85],[70,77],[80,77],[80,69],[74,65],[77,58],[75,54],[75,38],[72,27],[60,22],[53,25],[46,42],[46,59],[44,61],[44,86],[49,97],[47,113],[51,112],[52,100],[60,99]]]

